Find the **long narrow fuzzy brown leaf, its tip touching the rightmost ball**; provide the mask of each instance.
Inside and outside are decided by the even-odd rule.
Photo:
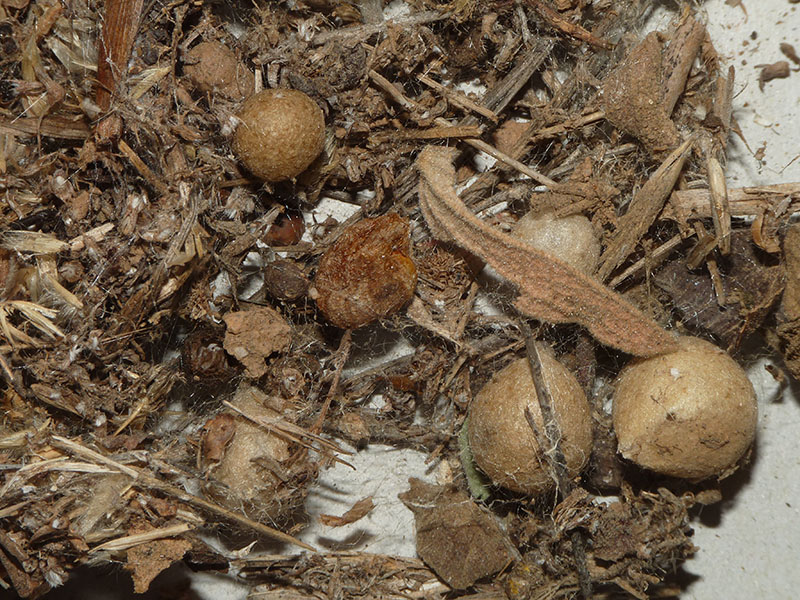
[[[417,158],[420,207],[434,236],[475,253],[514,283],[516,306],[551,323],[578,323],[600,342],[637,356],[674,349],[672,337],[599,281],[480,221],[453,188],[451,151],[426,147]]]

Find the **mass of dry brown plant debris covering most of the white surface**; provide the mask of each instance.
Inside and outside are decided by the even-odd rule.
[[[534,338],[584,390],[687,332],[764,334],[800,377],[800,184],[728,187],[735,73],[688,7],[640,39],[653,5],[0,2],[0,586],[116,563],[144,591],[180,560],[254,598],[661,585],[700,492],[620,461],[605,392],[589,467],[538,502],[473,465],[476,503],[457,440]],[[296,168],[235,142],[259,92],[313,116],[273,111]],[[531,220],[579,222],[587,260]],[[339,440],[447,473],[403,495],[424,562],[295,537],[372,510],[303,514]],[[223,556],[214,531],[284,545]]]

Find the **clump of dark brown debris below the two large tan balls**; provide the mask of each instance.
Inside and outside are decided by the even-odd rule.
[[[512,600],[574,597],[578,575],[568,533],[580,528],[591,540],[586,558],[597,597],[616,588],[623,597],[648,598],[658,573],[696,550],[687,513],[693,503],[665,488],[637,494],[624,486],[611,504],[576,490],[555,507],[552,521],[530,516],[515,524],[512,536],[523,555],[505,577],[505,591]]]

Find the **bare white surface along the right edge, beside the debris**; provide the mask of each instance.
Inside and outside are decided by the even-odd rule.
[[[759,163],[733,136],[728,184],[800,181],[800,160],[792,162],[800,154],[797,65],[790,63],[789,78],[768,82],[763,92],[756,67],[786,60],[781,42],[800,51],[800,5],[745,0],[743,6],[746,14],[714,0],[704,10],[714,44],[736,69],[734,116],[753,151],[766,143]],[[800,596],[800,395],[781,395],[762,365],[750,373],[760,410],[753,464],[723,482],[721,506],[701,514],[695,534],[700,551],[684,565],[698,577],[684,593],[687,599]]]

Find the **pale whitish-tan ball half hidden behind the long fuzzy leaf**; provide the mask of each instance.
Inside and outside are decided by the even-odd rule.
[[[529,212],[514,225],[513,235],[537,250],[594,275],[600,261],[600,238],[583,215],[556,218]]]

